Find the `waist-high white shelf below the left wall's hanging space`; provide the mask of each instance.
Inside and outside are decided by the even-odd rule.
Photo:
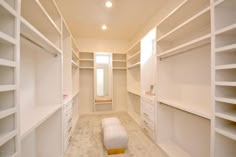
[[[61,108],[61,105],[34,107],[21,114],[20,136],[23,139]]]

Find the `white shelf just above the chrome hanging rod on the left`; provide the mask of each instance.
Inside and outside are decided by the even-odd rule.
[[[62,54],[62,51],[59,48],[57,48],[49,39],[47,39],[24,18],[21,18],[21,34],[55,55]]]

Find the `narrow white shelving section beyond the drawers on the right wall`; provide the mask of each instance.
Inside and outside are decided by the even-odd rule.
[[[141,125],[140,114],[140,41],[126,51],[127,103],[129,115]]]

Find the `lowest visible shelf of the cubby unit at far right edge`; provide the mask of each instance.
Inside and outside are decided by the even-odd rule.
[[[224,127],[222,129],[220,128],[215,128],[215,131],[218,133],[218,134],[221,134],[223,136],[226,136],[228,138],[231,138],[233,140],[236,140],[236,128],[235,126],[227,126],[227,127]]]

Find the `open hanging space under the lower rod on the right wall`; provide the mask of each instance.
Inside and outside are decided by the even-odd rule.
[[[210,156],[210,120],[158,104],[158,144],[168,156]]]

